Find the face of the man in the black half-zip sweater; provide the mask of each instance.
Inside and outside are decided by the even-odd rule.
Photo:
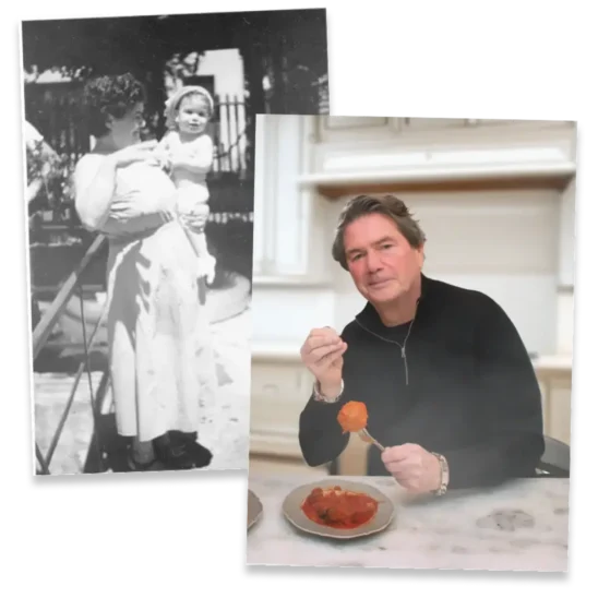
[[[396,224],[382,214],[352,222],[344,240],[354,283],[374,306],[400,298],[421,273],[423,246],[414,249]]]

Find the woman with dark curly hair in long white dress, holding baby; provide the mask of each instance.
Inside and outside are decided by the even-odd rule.
[[[84,98],[97,143],[76,166],[75,206],[83,225],[109,240],[109,368],[118,433],[131,439],[128,464],[203,467],[200,400],[216,379],[198,279],[211,278],[213,264],[198,259],[178,216],[157,142],[140,142],[141,83],[99,77]]]

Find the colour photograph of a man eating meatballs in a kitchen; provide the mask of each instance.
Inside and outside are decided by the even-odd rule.
[[[258,118],[248,573],[569,571],[578,125],[501,117]]]

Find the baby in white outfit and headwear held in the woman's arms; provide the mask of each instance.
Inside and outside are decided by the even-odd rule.
[[[212,168],[214,145],[205,132],[214,112],[214,100],[200,86],[179,89],[166,103],[168,132],[156,153],[177,187],[177,211],[198,258],[199,275],[214,280],[215,259],[207,251],[205,224],[210,214],[206,175]]]

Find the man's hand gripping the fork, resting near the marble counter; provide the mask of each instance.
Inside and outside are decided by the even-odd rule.
[[[382,463],[395,480],[411,492],[434,492],[441,486],[440,461],[419,444],[385,448]]]

